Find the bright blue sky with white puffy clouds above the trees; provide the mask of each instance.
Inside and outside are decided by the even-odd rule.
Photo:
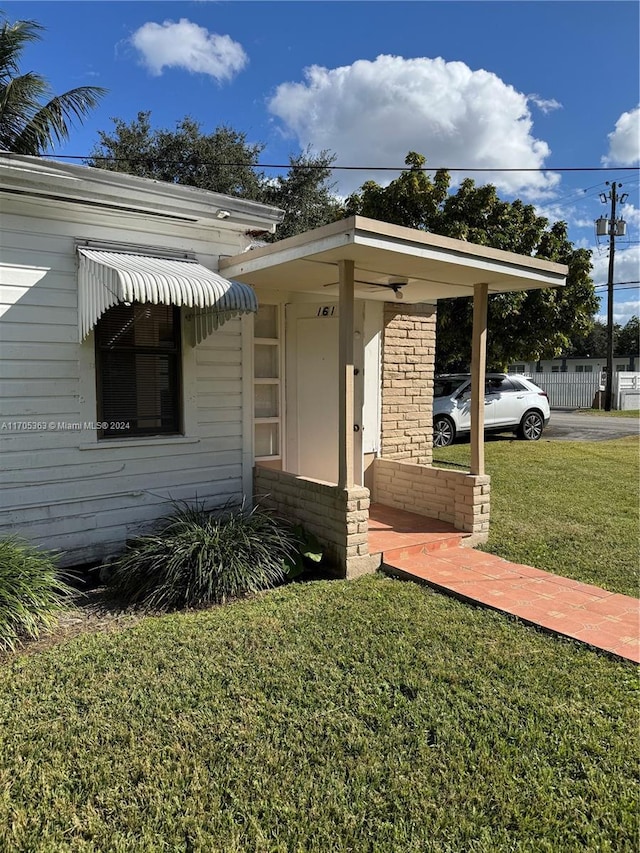
[[[109,94],[54,155],[86,155],[110,118],[151,110],[173,127],[227,124],[285,163],[307,145],[344,165],[401,165],[409,150],[434,166],[485,167],[505,198],[564,219],[607,252],[593,220],[608,208],[605,181],[629,193],[627,236],[616,243],[616,281],[640,279],[638,166],[639,5],[604,2],[10,2],[9,19],[46,27],[23,71],[56,91]],[[607,172],[553,167],[607,166]],[[539,172],[501,172],[501,168]],[[461,173],[455,173],[460,176]],[[336,172],[346,193],[368,178]],[[598,291],[602,293],[601,290]],[[606,310],[603,300],[601,309]],[[616,320],[640,313],[637,284],[616,289]]]

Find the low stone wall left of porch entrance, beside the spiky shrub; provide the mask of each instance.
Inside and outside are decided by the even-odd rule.
[[[261,506],[317,536],[325,546],[327,559],[345,577],[377,568],[375,558],[369,556],[369,489],[341,489],[258,465],[254,469],[254,495]]]

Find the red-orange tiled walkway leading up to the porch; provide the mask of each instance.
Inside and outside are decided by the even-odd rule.
[[[369,550],[387,571],[640,663],[637,598],[460,547],[462,539],[442,522],[371,507]]]

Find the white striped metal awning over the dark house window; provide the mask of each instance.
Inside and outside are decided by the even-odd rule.
[[[171,259],[78,246],[78,319],[83,341],[100,317],[119,302],[152,302],[193,309],[193,343],[233,317],[255,313],[247,284],[229,281],[187,258]]]

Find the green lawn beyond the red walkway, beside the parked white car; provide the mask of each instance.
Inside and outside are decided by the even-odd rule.
[[[636,438],[485,445],[491,531],[485,550],[611,592],[638,595],[640,457]],[[469,444],[434,450],[467,467]]]

